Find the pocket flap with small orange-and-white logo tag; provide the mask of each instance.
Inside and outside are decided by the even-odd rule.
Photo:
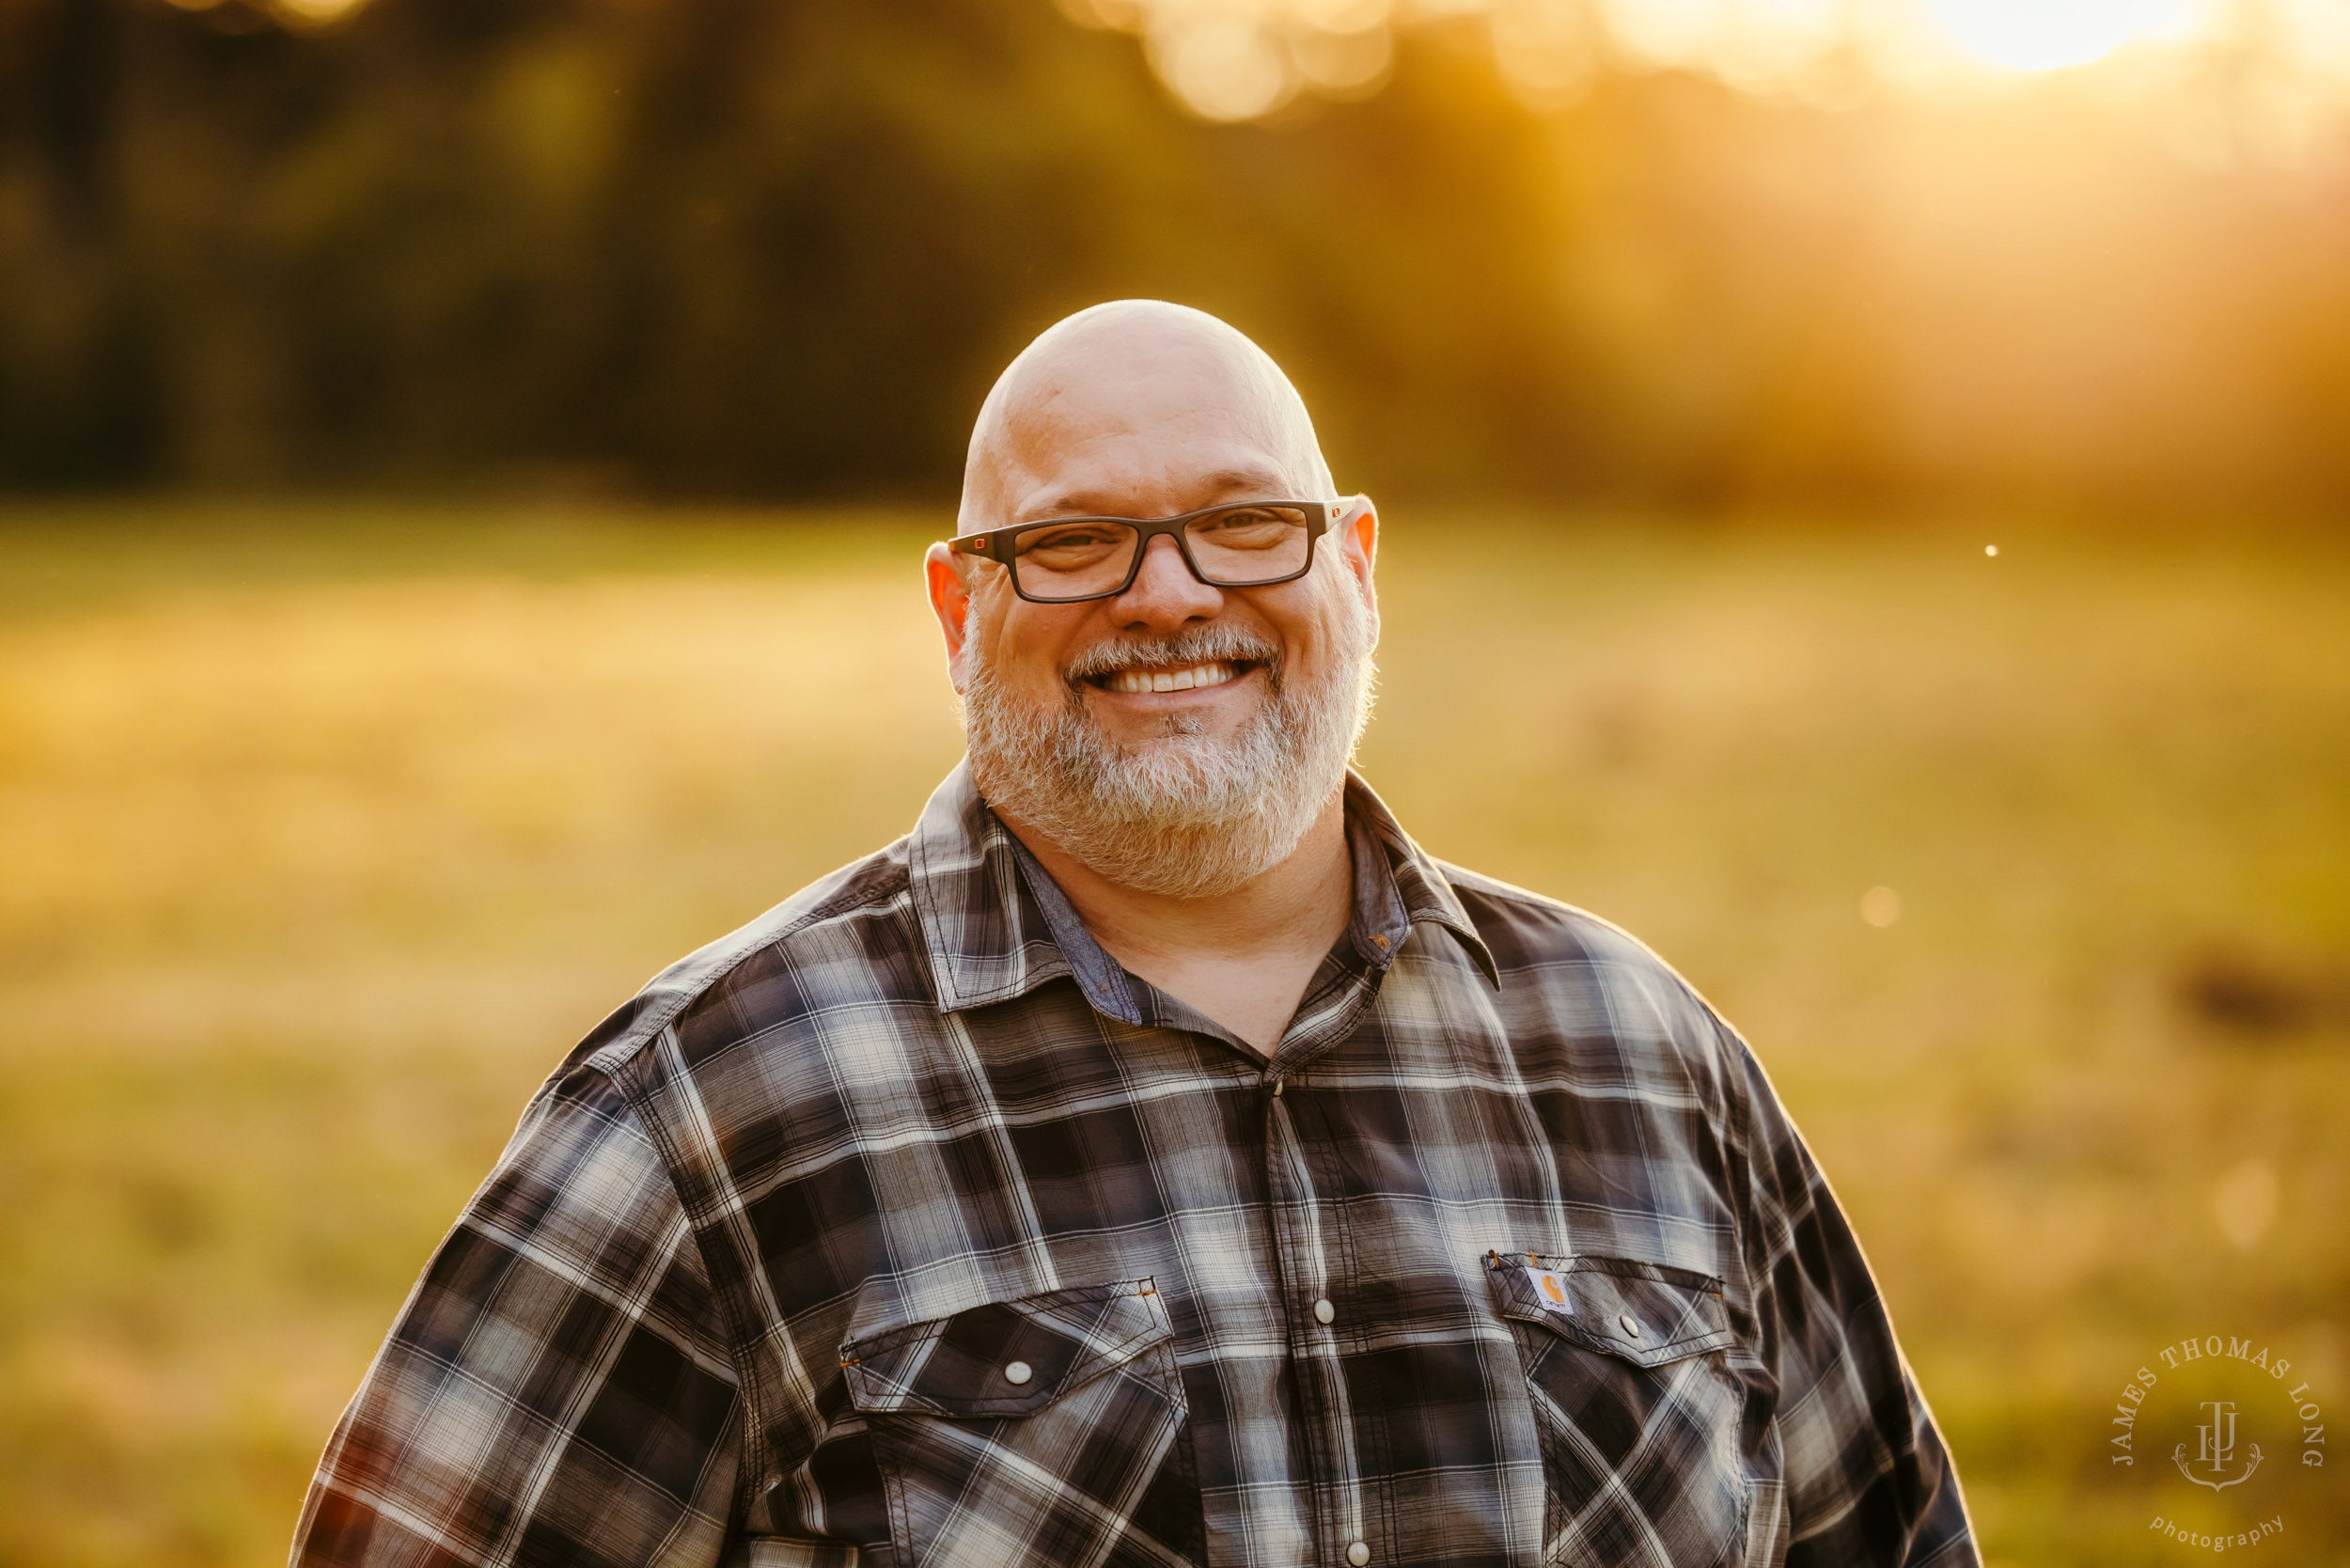
[[[1485,1276],[1502,1316],[1542,1324],[1633,1366],[1664,1366],[1737,1342],[1723,1281],[1697,1269],[1638,1258],[1485,1253]]]

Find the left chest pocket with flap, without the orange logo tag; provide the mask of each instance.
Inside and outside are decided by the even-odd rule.
[[[1201,1559],[1189,1406],[1147,1279],[841,1345],[900,1568]]]

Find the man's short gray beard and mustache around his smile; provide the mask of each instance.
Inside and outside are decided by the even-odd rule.
[[[1349,585],[1351,588],[1351,585]],[[1114,642],[1081,654],[1058,710],[1010,696],[980,639],[966,644],[964,736],[971,778],[1003,816],[1034,827],[1088,870],[1140,893],[1213,898],[1285,860],[1347,783],[1370,722],[1368,616],[1314,689],[1283,679],[1281,651],[1227,625]],[[1102,733],[1079,682],[1126,665],[1257,661],[1267,701],[1229,741],[1191,717],[1135,745]]]

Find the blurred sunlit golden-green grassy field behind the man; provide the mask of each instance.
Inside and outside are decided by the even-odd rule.
[[[940,524],[827,522],[0,512],[0,1563],[282,1559],[571,1039],[912,823]],[[2202,1556],[2162,1345],[2350,1413],[2350,548],[1398,512],[1384,607],[1363,771],[1755,1041],[1995,1563]]]

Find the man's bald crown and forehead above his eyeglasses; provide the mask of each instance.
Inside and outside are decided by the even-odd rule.
[[[1332,494],[1290,378],[1206,310],[1121,299],[1062,317],[996,378],[971,430],[956,531],[1173,515],[1267,487]]]

